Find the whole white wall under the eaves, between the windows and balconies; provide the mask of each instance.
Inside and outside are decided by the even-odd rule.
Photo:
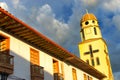
[[[10,76],[30,80],[30,48],[35,48],[4,32],[0,31],[0,33],[10,37],[10,54],[14,56],[14,73]],[[63,64],[64,80],[73,80],[72,68],[76,69],[77,79],[84,80],[84,71],[50,56],[49,53],[38,51],[40,53],[40,66],[44,67],[44,80],[53,80],[53,59],[59,62],[59,73],[62,73],[61,64]],[[93,78],[93,80],[98,79]]]

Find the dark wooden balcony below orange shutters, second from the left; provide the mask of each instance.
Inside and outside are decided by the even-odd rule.
[[[44,80],[44,69],[38,65],[31,65],[31,80]]]

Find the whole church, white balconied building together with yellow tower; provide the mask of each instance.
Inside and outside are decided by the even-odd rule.
[[[114,80],[97,18],[80,24],[78,58],[0,8],[0,80]]]

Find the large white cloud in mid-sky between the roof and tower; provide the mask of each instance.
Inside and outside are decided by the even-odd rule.
[[[48,4],[43,5],[38,10],[36,20],[48,31],[48,35],[51,34],[51,38],[56,42],[62,43],[66,39],[69,32],[68,24],[55,19],[55,14]]]

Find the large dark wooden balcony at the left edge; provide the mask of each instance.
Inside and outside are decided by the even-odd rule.
[[[14,57],[0,52],[0,72],[12,74],[14,67]]]

